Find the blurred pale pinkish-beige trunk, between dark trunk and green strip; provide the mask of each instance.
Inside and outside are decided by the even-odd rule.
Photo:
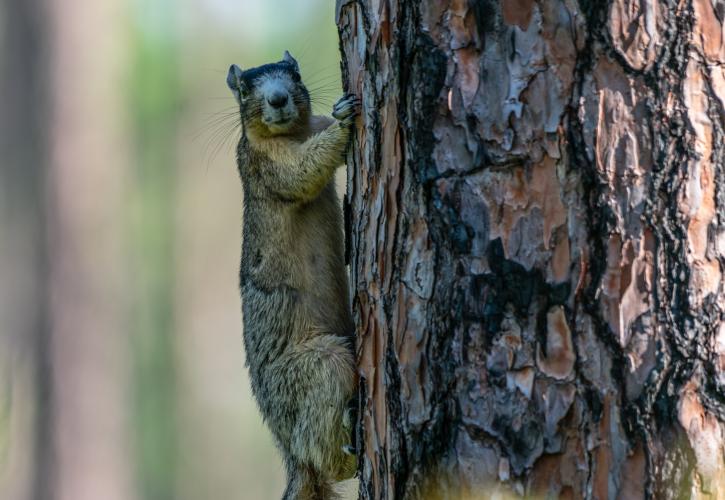
[[[131,500],[124,215],[130,141],[120,0],[48,2],[53,500]]]

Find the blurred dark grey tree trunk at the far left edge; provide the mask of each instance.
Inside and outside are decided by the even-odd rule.
[[[0,498],[53,486],[45,4],[0,4]]]

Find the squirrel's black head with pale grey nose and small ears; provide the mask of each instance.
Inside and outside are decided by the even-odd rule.
[[[279,62],[245,71],[232,64],[227,85],[247,131],[262,137],[286,135],[309,121],[310,95],[297,61],[287,51]]]

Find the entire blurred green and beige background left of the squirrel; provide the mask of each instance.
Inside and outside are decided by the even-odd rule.
[[[0,499],[279,498],[225,77],[285,49],[328,112],[331,0],[0,4]]]

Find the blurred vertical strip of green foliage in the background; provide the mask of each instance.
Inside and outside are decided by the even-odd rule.
[[[151,12],[168,2],[149,2]],[[168,6],[168,5],[167,5]],[[167,12],[172,12],[170,9]],[[180,102],[173,17],[151,16],[133,31],[129,106],[135,149],[129,241],[134,270],[130,318],[133,429],[139,496],[174,499],[176,361],[174,352],[174,206]]]

